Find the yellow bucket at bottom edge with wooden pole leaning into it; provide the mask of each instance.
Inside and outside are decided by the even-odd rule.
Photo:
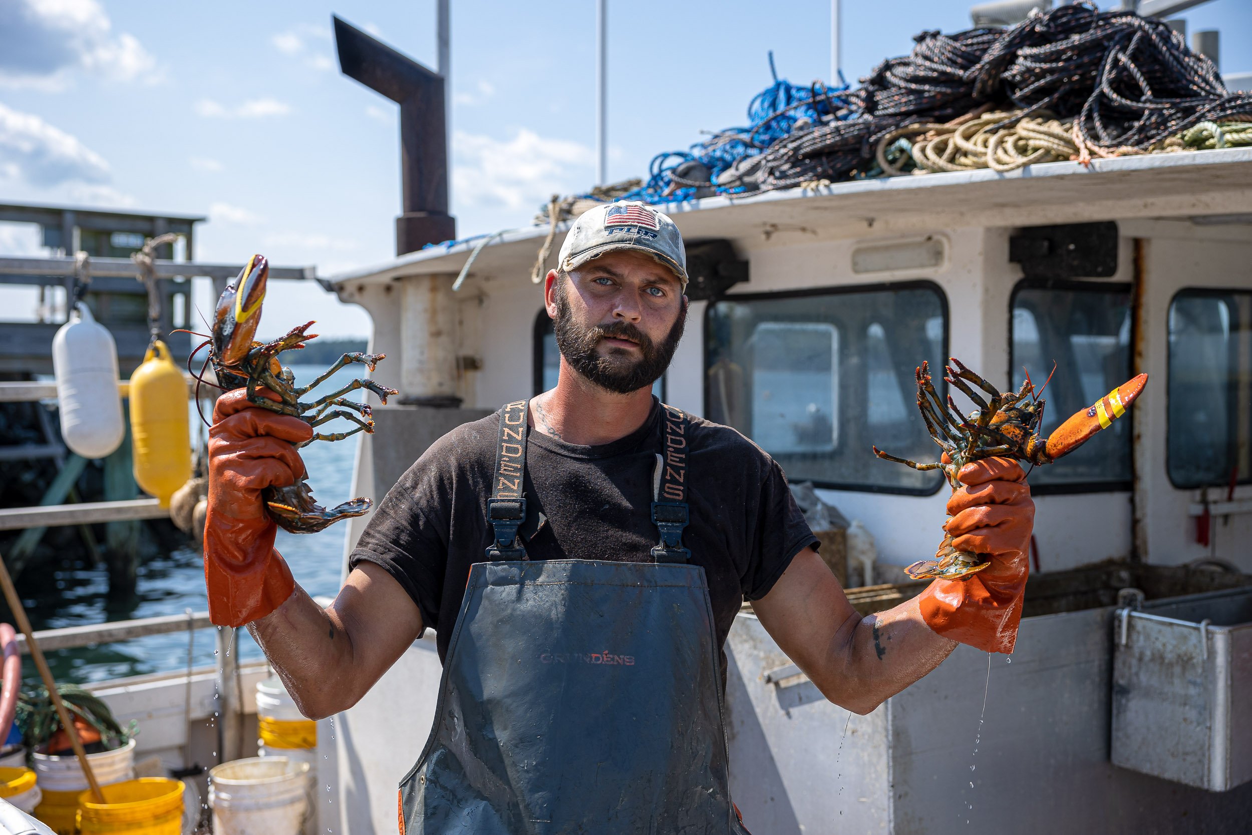
[[[90,790],[79,795],[78,825],[81,835],[180,835],[183,784],[165,777],[140,777],[100,786],[105,802]]]

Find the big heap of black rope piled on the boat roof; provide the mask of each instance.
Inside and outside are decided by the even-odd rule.
[[[1012,29],[925,31],[843,94],[861,115],[774,143],[745,180],[760,189],[875,170],[879,139],[908,124],[950,121],[983,105],[1077,119],[1097,150],[1148,150],[1201,121],[1248,118],[1252,94],[1229,93],[1217,66],[1163,21],[1064,5]]]

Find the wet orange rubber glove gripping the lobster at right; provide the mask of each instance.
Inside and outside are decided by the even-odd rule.
[[[944,528],[954,547],[990,555],[992,565],[968,580],[930,583],[918,598],[921,617],[944,637],[987,652],[1013,652],[1030,573],[1030,487],[1012,458],[975,461],[957,478],[963,487],[948,499],[952,518]]]

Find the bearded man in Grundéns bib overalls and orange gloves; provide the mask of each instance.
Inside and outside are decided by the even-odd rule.
[[[962,469],[967,582],[861,618],[779,466],[651,384],[682,336],[664,214],[583,214],[547,274],[560,381],[436,442],[382,501],[322,610],[259,501],[303,473],[292,417],[224,394],[209,442],[215,623],[248,623],[300,710],[346,710],[427,626],[434,729],[401,789],[409,832],[742,832],[727,791],[722,645],[744,597],[833,702],[866,714],[963,641],[1012,651],[1034,507],[1013,461]],[[518,383],[518,388],[522,384]],[[397,707],[402,709],[402,707]],[[751,764],[739,764],[750,769]]]

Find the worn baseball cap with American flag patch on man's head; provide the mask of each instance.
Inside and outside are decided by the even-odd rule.
[[[634,200],[606,203],[578,215],[561,245],[558,263],[568,272],[620,249],[651,255],[674,270],[686,292],[687,253],[679,228],[669,215]]]

